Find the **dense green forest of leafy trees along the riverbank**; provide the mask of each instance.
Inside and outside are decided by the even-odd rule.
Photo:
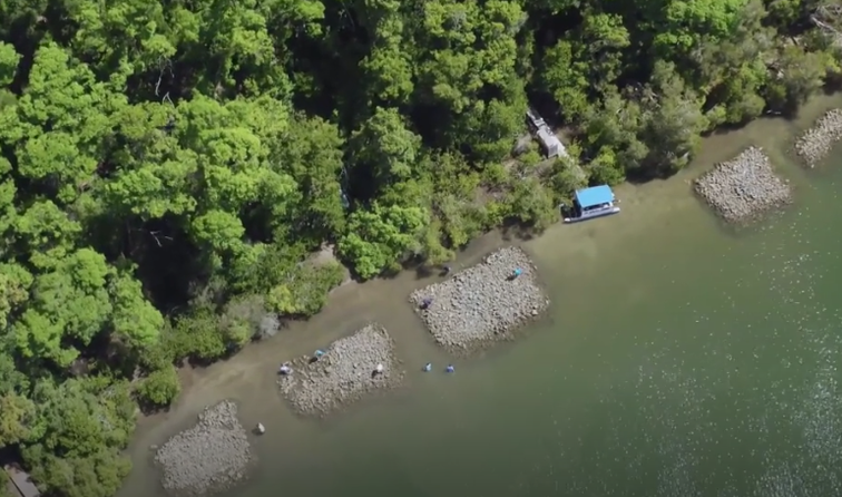
[[[112,495],[185,361],[794,110],[839,1],[0,1],[0,456]]]

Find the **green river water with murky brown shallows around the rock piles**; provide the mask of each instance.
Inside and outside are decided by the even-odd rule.
[[[678,177],[619,188],[617,216],[512,240],[541,270],[550,314],[456,374],[418,371],[449,358],[404,303],[425,283],[414,274],[343,289],[278,344],[244,352],[241,372],[200,397],[234,397],[244,422],[267,427],[254,478],[229,496],[842,495],[842,153],[816,170],[787,156],[792,133],[831,104],[707,139]],[[734,233],[687,182],[748,144],[767,149],[796,202]],[[499,243],[479,242],[460,264]],[[408,388],[326,422],[295,419],[273,387],[278,351],[368,320],[395,337]],[[153,486],[140,446],[198,409],[140,437],[126,497]]]

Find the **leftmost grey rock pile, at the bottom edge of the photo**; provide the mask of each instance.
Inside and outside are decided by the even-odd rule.
[[[155,455],[164,488],[198,496],[231,488],[247,476],[252,452],[237,406],[223,401],[205,409],[198,423],[170,438]]]

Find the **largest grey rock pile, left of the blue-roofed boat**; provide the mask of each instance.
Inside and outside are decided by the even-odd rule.
[[[522,274],[511,277],[520,267]],[[424,299],[431,299],[422,309]],[[501,248],[473,267],[410,294],[435,341],[452,352],[473,352],[500,340],[549,306],[537,270],[518,247]]]

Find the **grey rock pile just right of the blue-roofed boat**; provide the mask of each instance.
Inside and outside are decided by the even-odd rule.
[[[792,188],[761,148],[751,147],[694,182],[696,193],[726,222],[747,224],[789,204]]]

